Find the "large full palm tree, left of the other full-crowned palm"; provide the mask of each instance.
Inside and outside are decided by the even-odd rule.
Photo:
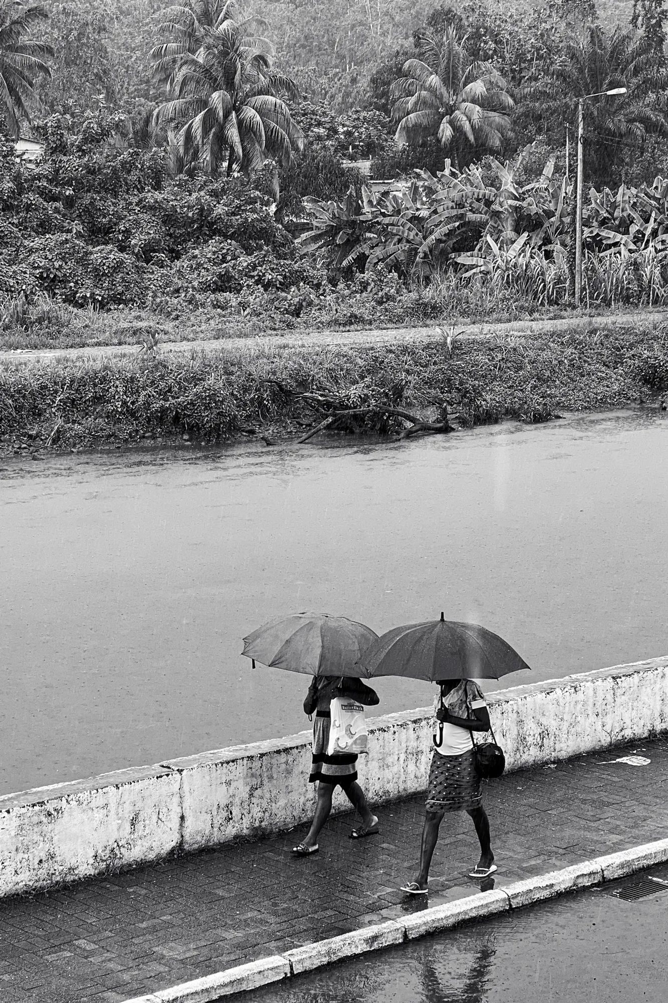
[[[236,21],[234,9],[234,0],[189,0],[173,8],[162,25],[176,41],[152,51],[173,97],[154,119],[179,126],[186,163],[199,161],[213,173],[226,161],[228,174],[239,166],[250,176],[267,156],[290,163],[304,138],[282,100],[298,97],[296,85],[271,69],[268,44],[245,34],[250,22]]]

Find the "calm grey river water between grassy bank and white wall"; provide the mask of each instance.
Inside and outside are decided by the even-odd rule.
[[[239,654],[297,610],[482,623],[533,669],[502,685],[666,654],[667,458],[666,414],[619,412],[5,461],[0,792],[307,727],[309,680]]]

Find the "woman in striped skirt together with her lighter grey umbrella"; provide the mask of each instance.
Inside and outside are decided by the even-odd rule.
[[[293,847],[296,857],[318,852],[318,835],[329,817],[337,785],[362,819],[362,824],[350,833],[351,839],[378,832],[378,818],[357,782],[357,752],[329,751],[330,704],[334,697],[349,698],[367,707],[379,703],[377,693],[359,678],[363,670],[357,666],[360,656],[377,640],[377,634],[364,624],[324,613],[297,613],[273,620],[244,638],[242,654],[252,658],[254,665],[257,659],[265,665],[313,676],[304,711],[316,715],[309,782],[317,782],[318,800],[308,833]],[[358,709],[362,714],[362,707]]]

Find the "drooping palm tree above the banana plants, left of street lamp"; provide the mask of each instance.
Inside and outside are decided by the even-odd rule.
[[[396,141],[419,143],[437,138],[458,168],[474,149],[498,149],[510,131],[505,113],[514,106],[506,81],[488,62],[472,59],[448,27],[444,34],[419,32],[420,59],[408,59],[404,75],[392,85],[397,98],[392,117],[398,121]]]

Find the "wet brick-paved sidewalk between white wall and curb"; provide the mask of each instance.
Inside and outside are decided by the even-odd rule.
[[[646,766],[611,760],[634,752]],[[363,764],[361,770],[363,782]],[[484,802],[504,882],[663,839],[668,737],[510,773]],[[330,819],[320,853],[294,860],[305,833],[139,868],[34,898],[0,900],[2,1003],[119,1003],[231,965],[425,908],[397,891],[415,871],[424,798],[384,805],[381,834],[348,839]],[[475,885],[466,815],[446,817],[429,905]]]

